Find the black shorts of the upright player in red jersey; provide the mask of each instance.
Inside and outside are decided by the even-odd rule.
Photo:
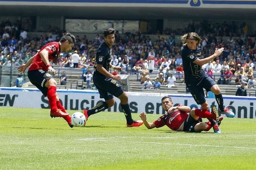
[[[43,95],[47,96],[48,87],[45,87],[45,83],[50,78],[53,78],[51,74],[45,72],[42,69],[31,70],[31,71],[28,71],[28,78],[29,78],[29,81],[32,84],[34,84],[43,93]]]

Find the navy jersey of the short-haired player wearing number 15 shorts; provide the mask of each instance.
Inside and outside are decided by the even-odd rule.
[[[109,65],[111,61],[111,48],[107,46],[105,42],[100,44],[97,53],[96,53],[96,60],[93,65],[93,76],[97,76],[99,78],[106,78],[105,75],[101,74],[97,71],[97,64],[102,64],[102,66],[109,71]]]

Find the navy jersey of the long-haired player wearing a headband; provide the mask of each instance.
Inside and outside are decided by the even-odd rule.
[[[205,71],[200,65],[193,63],[197,58],[201,59],[201,49],[189,49],[187,45],[181,50],[185,83],[186,85],[198,85],[205,75]]]

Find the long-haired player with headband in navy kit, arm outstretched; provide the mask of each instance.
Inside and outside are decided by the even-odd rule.
[[[199,47],[201,39],[196,33],[184,34],[181,36],[181,40],[182,44],[184,45],[181,55],[184,66],[185,83],[189,88],[195,102],[198,105],[201,105],[203,110],[208,111],[209,106],[204,97],[204,88],[207,92],[211,91],[215,94],[220,115],[224,114],[230,118],[234,117],[235,114],[229,110],[230,108],[224,109],[223,97],[218,85],[201,67],[203,64],[206,64],[219,56],[223,52],[224,48],[215,49],[214,54],[207,58],[201,59],[201,49]],[[209,121],[211,124],[216,123],[211,119],[209,119]]]

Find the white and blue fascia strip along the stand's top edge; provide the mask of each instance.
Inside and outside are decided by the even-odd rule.
[[[1,0],[1,5],[255,8],[254,0]]]

